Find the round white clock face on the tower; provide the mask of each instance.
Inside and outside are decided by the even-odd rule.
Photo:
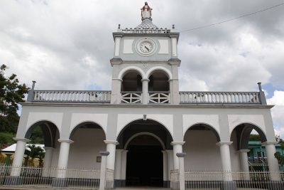
[[[155,41],[153,41],[151,38],[141,38],[136,43],[136,51],[141,56],[151,56],[153,53],[155,53],[156,50],[156,44]]]

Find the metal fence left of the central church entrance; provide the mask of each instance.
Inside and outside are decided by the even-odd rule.
[[[18,167],[20,176],[10,176],[12,167],[0,167],[0,186],[14,186],[34,189],[99,189],[99,169],[65,169],[64,186],[54,182],[58,169]],[[15,168],[13,168],[15,170]],[[62,170],[62,169],[60,169]],[[57,181],[58,183],[58,181]]]

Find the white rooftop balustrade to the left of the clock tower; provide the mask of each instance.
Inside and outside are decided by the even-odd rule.
[[[110,102],[111,91],[34,90],[33,102]]]

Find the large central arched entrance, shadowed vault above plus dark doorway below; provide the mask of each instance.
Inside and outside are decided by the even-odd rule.
[[[168,130],[153,120],[131,122],[118,137],[126,149],[126,186],[164,186],[163,150],[172,149]],[[168,163],[167,163],[168,164]]]

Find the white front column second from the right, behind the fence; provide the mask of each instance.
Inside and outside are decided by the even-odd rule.
[[[220,147],[223,180],[232,181],[231,176],[231,156],[229,145],[233,142],[218,142],[217,145]]]

